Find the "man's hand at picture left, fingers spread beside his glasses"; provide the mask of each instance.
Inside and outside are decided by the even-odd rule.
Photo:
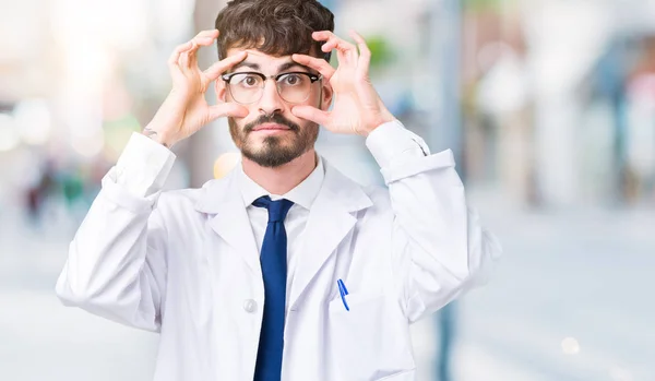
[[[241,52],[214,63],[204,72],[201,71],[198,67],[196,51],[201,46],[211,46],[217,37],[216,29],[203,31],[174,50],[168,60],[172,90],[144,129],[144,134],[171,147],[219,117],[242,118],[248,115],[248,109],[239,104],[218,103],[210,106],[205,100],[210,84],[247,56],[246,52]]]

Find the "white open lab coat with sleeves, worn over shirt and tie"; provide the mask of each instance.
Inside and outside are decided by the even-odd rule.
[[[325,162],[287,300],[285,381],[415,380],[409,324],[500,254],[450,151],[382,172],[389,190],[364,189]],[[252,380],[264,287],[235,176],[147,198],[115,177],[71,242],[58,296],[160,332],[156,381]]]

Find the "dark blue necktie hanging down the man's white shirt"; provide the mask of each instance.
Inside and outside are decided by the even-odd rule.
[[[284,199],[271,201],[271,198],[264,195],[252,204],[269,210],[269,224],[260,257],[265,300],[254,381],[279,381],[284,348],[287,269],[284,218],[294,203]]]

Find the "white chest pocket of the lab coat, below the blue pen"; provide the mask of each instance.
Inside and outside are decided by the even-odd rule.
[[[330,301],[330,346],[338,380],[395,380],[415,368],[407,320],[383,294],[353,293]],[[398,380],[405,380],[400,378]]]

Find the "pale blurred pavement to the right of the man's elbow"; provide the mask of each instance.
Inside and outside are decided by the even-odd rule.
[[[652,211],[486,216],[505,257],[460,325],[465,348],[491,361],[463,353],[460,371],[479,373],[462,380],[655,380]]]

